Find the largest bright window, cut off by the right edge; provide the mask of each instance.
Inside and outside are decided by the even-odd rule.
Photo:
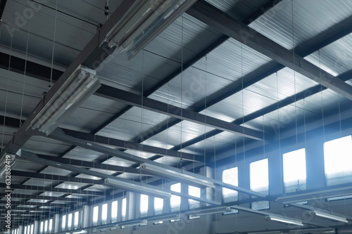
[[[352,138],[345,136],[324,143],[325,177],[327,186],[351,182]]]

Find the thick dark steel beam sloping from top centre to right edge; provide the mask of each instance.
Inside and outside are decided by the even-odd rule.
[[[187,13],[210,27],[220,30],[220,32],[227,34],[229,37],[253,48],[259,53],[272,58],[272,60],[277,61],[277,63],[281,63],[309,79],[318,82],[322,86],[332,89],[352,100],[351,85],[334,77],[332,74],[329,74],[329,72],[325,72],[325,70],[313,65],[313,63],[308,62],[298,54],[277,44],[275,41],[268,39],[268,37],[244,25],[244,23],[231,18],[211,4],[205,1],[198,1],[189,8]]]

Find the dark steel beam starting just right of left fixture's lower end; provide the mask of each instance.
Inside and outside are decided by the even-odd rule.
[[[115,138],[108,138],[105,136],[99,136],[96,134],[85,134],[80,131],[74,131],[70,129],[62,129],[63,132],[68,136],[73,136],[75,138],[80,138],[84,141],[93,141],[96,143],[102,143],[106,145],[115,145],[118,148],[128,149],[128,150],[139,150],[144,152],[151,152],[156,155],[163,155],[168,157],[182,157],[182,160],[189,160],[189,161],[199,161],[203,162],[204,158],[201,155],[193,155],[186,152],[179,152],[176,150],[168,150],[164,148],[158,148],[151,145],[142,145],[139,143],[134,143],[131,141],[122,141]]]

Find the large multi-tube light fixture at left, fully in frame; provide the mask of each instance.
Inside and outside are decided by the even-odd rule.
[[[48,136],[70,113],[87,100],[101,86],[94,70],[77,67],[54,96],[30,122],[32,129],[39,129]],[[45,97],[44,97],[45,98]]]

